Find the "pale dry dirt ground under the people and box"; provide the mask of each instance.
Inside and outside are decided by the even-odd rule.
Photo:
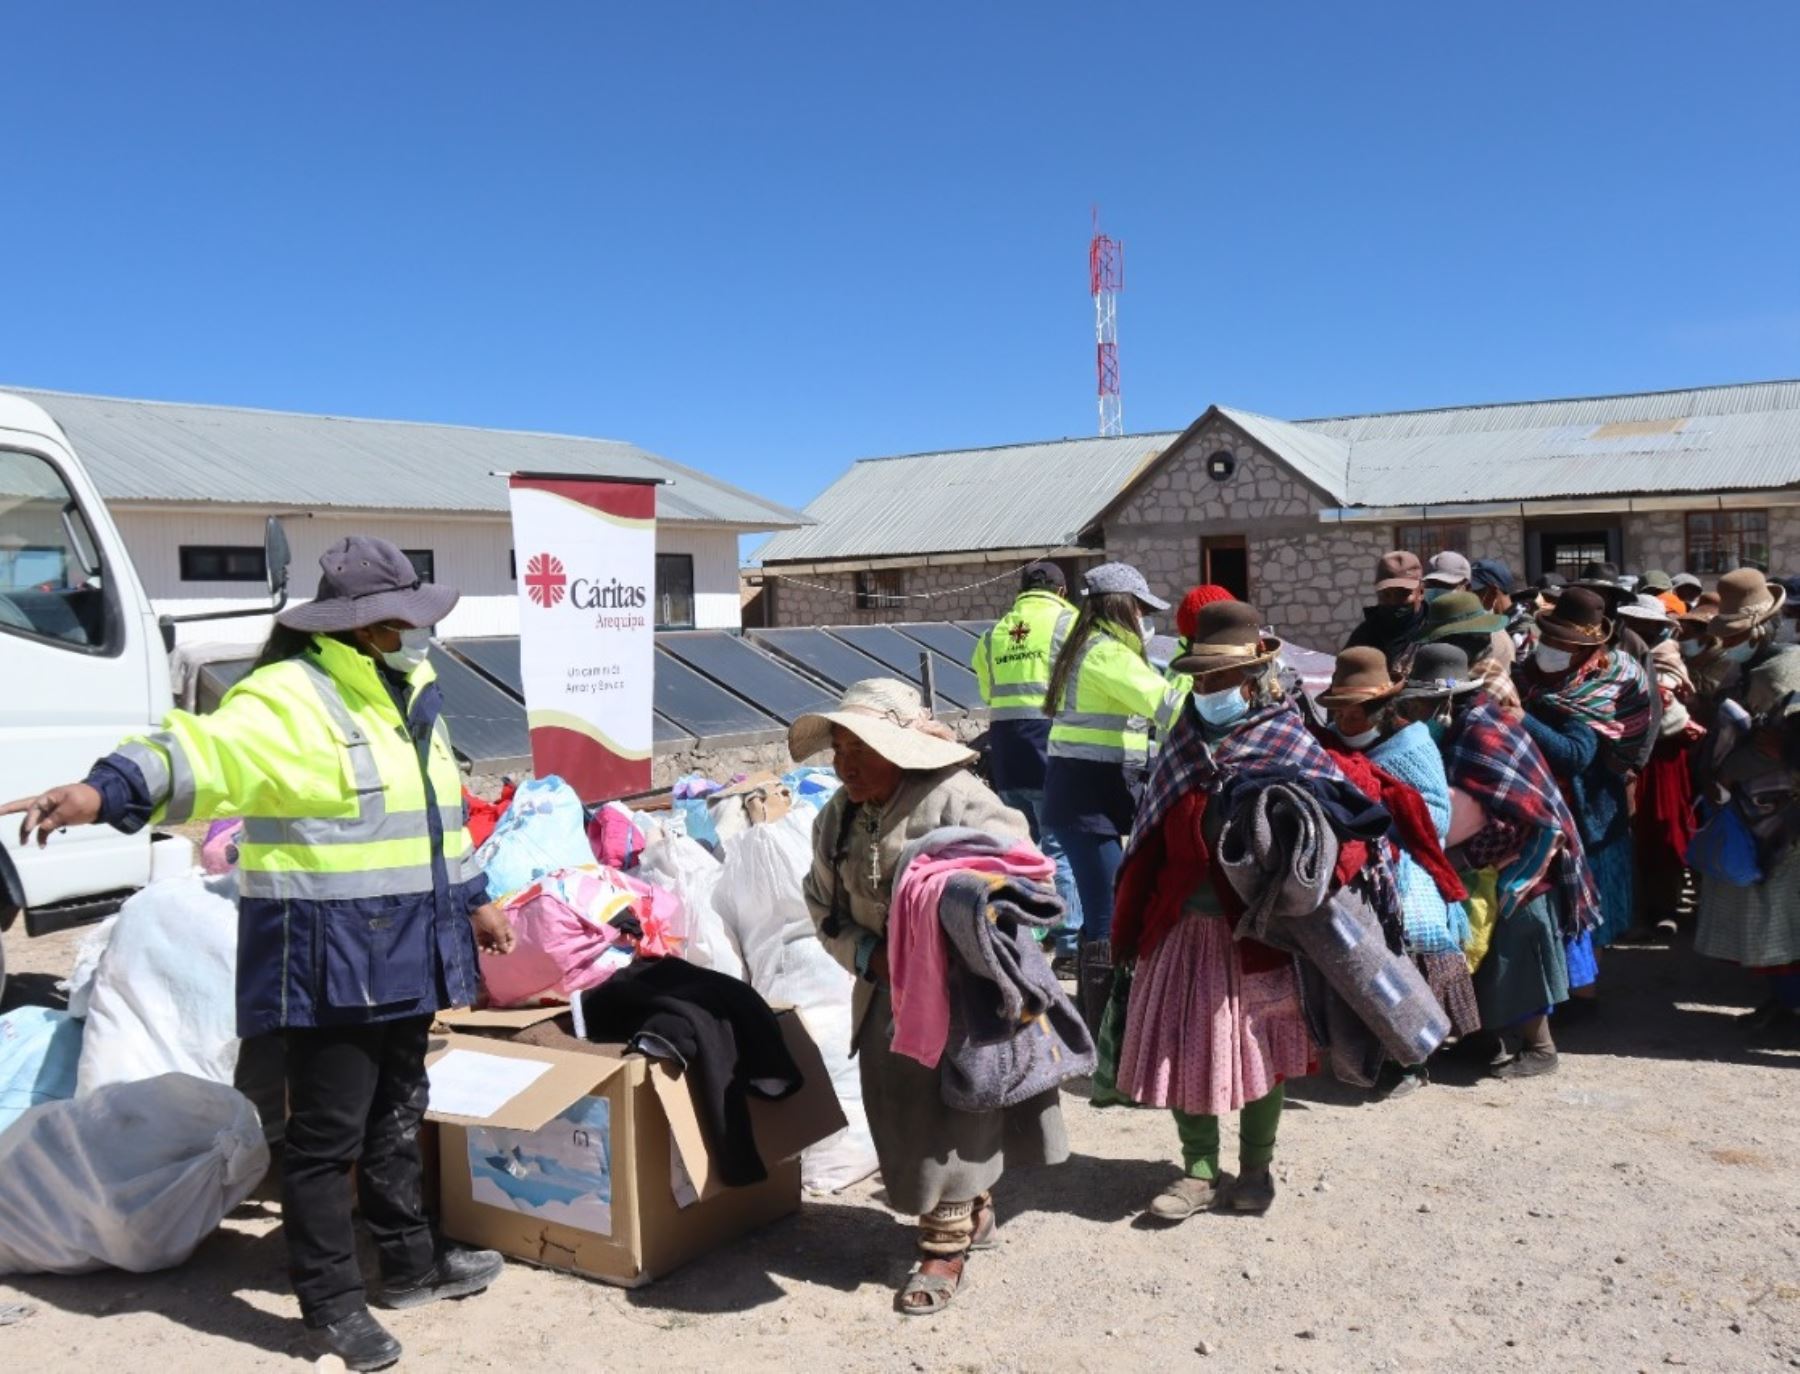
[[[49,999],[77,936],[13,940]],[[907,1230],[873,1183],[626,1293],[513,1264],[392,1315],[412,1370],[1764,1370],[1800,1367],[1800,1053],[1746,1050],[1753,989],[1685,944],[1607,956],[1557,1077],[1444,1068],[1282,1124],[1264,1219],[1139,1221],[1175,1174],[1152,1111],[1066,1098],[1075,1158],[1010,1174],[1003,1248],[936,1320],[891,1311]],[[13,1370],[302,1369],[275,1210],[182,1270],[0,1282]]]

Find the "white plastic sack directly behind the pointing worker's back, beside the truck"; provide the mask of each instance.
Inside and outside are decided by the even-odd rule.
[[[76,1097],[158,1073],[238,1070],[238,884],[151,882],[119,909],[88,992]]]

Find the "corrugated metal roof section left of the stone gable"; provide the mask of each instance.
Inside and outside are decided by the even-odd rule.
[[[815,524],[776,535],[756,556],[895,558],[1073,544],[1175,438],[1127,434],[866,457],[806,506]]]

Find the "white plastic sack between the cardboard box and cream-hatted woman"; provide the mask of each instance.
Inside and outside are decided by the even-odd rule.
[[[812,868],[812,807],[754,825],[725,846],[713,906],[743,951],[751,987],[794,1007],[819,1046],[848,1125],[801,1154],[801,1183],[837,1192],[877,1169],[862,1111],[862,1075],[850,1057],[855,978],[819,944],[801,884]]]

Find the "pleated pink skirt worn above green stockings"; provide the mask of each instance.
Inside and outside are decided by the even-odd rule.
[[[1219,1116],[1316,1064],[1292,967],[1244,972],[1222,918],[1183,917],[1138,965],[1118,1071],[1134,1102]]]

